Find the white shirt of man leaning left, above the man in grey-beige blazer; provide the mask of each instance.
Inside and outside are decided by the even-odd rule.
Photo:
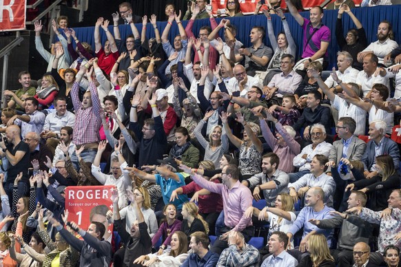
[[[338,118],[351,117],[356,121],[356,129],[354,134],[356,136],[364,135],[366,127],[366,111],[360,107],[348,104],[347,101],[334,97],[333,107],[338,110]]]

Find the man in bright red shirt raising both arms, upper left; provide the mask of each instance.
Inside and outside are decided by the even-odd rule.
[[[103,18],[97,19],[96,24],[94,25],[94,45],[95,54],[97,58],[99,58],[99,67],[105,73],[110,75],[114,63],[116,63],[117,58],[119,58],[119,49],[117,48],[116,41],[114,41],[113,35],[107,29],[108,25],[108,20],[104,21]],[[105,31],[105,34],[107,36],[107,41],[105,41],[104,47],[102,47],[101,44],[99,32],[100,27]]]

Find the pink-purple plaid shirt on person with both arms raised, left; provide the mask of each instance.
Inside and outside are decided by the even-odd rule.
[[[100,140],[99,129],[102,121],[99,114],[102,107],[93,82],[89,84],[89,89],[92,98],[92,107],[88,107],[87,109],[82,108],[82,103],[79,100],[79,83],[74,83],[71,89],[72,104],[75,109],[75,127],[72,140],[75,145],[99,142]]]

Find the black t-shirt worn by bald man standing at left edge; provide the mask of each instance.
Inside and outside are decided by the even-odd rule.
[[[7,150],[10,151],[12,156],[15,156],[15,153],[17,151],[24,151],[25,155],[19,160],[17,164],[12,166],[12,164],[9,164],[8,167],[8,175],[7,175],[7,184],[12,184],[14,183],[15,178],[17,178],[17,175],[22,171],[22,180],[23,182],[28,182],[28,166],[29,166],[29,158],[30,158],[30,151],[29,151],[29,146],[27,143],[21,141],[19,142],[18,145],[16,145],[13,148],[12,143],[8,144]]]

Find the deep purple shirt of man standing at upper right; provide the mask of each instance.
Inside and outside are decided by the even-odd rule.
[[[304,52],[302,53],[302,58],[309,58],[311,56],[313,56],[318,50],[320,50],[320,42],[327,42],[330,43],[331,40],[331,32],[330,29],[326,26],[326,25],[322,25],[320,24],[318,26],[318,30],[315,34],[313,34],[312,38],[311,38],[311,42],[316,46],[316,49],[312,49],[311,46],[309,44],[307,44],[308,41],[308,37],[307,37],[307,30],[309,30],[309,34],[312,34],[313,31],[315,30],[314,28],[312,28],[312,25],[309,24],[309,19],[305,19],[304,18],[304,25],[302,25],[302,29],[304,30],[304,39],[303,39],[303,43],[304,43],[304,47],[306,45],[306,47],[304,48]],[[325,54],[325,58],[327,58],[329,56],[329,53],[326,51]]]

